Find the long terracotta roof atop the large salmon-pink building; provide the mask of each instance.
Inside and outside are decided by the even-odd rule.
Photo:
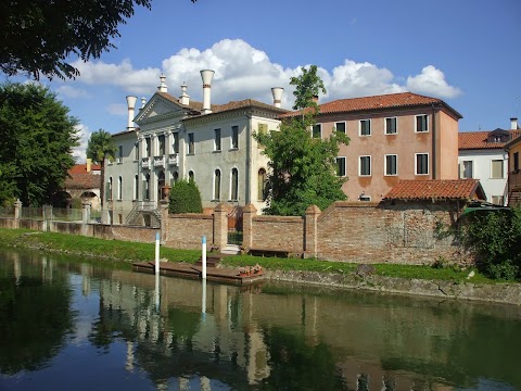
[[[443,100],[437,98],[424,97],[412,92],[399,92],[373,97],[339,99],[332,102],[320,104],[319,110],[320,114],[330,114],[374,111],[380,109],[414,108],[431,104],[443,104],[456,116],[462,118],[461,114],[459,114],[456,110],[446,104]],[[295,111],[282,116],[294,116],[297,114],[300,114],[300,112]]]

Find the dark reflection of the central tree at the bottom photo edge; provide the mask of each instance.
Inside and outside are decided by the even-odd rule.
[[[260,390],[347,390],[330,349],[308,345],[302,336],[283,329],[265,333],[269,350],[269,377]]]

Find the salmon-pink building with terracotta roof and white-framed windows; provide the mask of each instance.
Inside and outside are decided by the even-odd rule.
[[[335,100],[319,110],[314,137],[334,128],[351,139],[338,156],[350,201],[379,202],[399,179],[458,178],[461,115],[440,99],[403,92]]]

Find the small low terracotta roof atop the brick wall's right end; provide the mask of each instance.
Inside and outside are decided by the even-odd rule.
[[[471,200],[484,199],[478,179],[399,180],[384,200]]]

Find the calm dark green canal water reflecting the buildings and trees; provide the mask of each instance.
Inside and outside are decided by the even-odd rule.
[[[0,390],[520,390],[521,308],[0,249]]]

